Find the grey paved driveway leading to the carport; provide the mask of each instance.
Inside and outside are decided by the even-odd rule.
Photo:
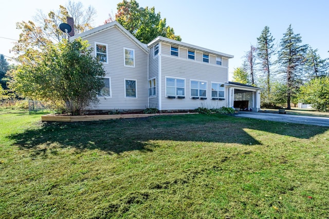
[[[262,113],[262,112],[243,112],[243,111],[234,114],[234,116],[255,118],[257,120],[267,120],[267,121],[276,121],[276,122],[284,122],[284,123],[299,123],[299,124],[329,127],[329,117]]]

